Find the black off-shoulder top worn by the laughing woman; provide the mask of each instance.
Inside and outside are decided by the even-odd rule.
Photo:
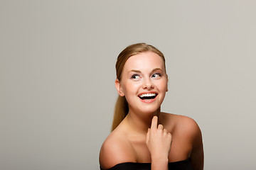
[[[104,170],[100,167],[101,170]],[[106,170],[150,170],[151,163],[135,163],[135,162],[124,162],[117,164],[110,169]],[[186,159],[179,162],[169,162],[169,170],[192,170],[191,159]]]

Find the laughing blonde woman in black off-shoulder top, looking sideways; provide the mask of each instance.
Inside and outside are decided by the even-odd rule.
[[[167,88],[164,55],[151,45],[129,45],[118,56],[112,132],[100,150],[101,169],[203,169],[196,122],[160,111]]]

